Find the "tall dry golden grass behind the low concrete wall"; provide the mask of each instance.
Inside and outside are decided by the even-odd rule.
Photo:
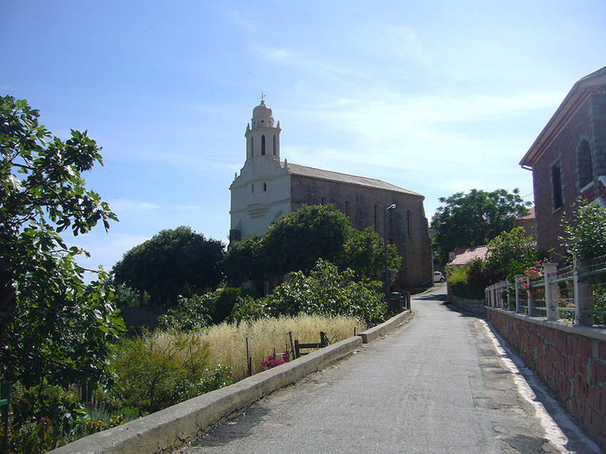
[[[330,342],[339,342],[366,329],[364,322],[353,317],[319,317],[299,315],[279,319],[257,320],[257,322],[238,324],[222,323],[208,327],[196,333],[202,342],[210,347],[210,366],[230,364],[234,378],[241,380],[248,375],[247,349],[252,358],[252,373],[261,371],[261,361],[276,353],[290,352],[289,332],[292,339],[299,342],[319,342],[320,332],[329,337]],[[168,333],[156,334],[168,342]]]

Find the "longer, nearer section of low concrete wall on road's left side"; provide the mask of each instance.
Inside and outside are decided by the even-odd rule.
[[[231,386],[202,394],[122,426],[81,438],[51,453],[155,454],[176,449],[222,418],[277,389],[303,379],[322,369],[322,366],[353,354],[354,350],[360,349],[361,346],[362,337],[350,337]]]

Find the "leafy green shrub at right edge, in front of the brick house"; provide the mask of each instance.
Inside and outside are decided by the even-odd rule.
[[[606,210],[601,206],[578,206],[564,232],[566,250],[582,262],[606,255]]]

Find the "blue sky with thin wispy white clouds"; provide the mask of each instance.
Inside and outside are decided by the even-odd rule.
[[[512,190],[572,85],[606,65],[606,2],[0,0],[0,94],[66,139],[120,218],[66,238],[110,269],[164,228],[227,242],[261,92],[289,162],[438,197]]]

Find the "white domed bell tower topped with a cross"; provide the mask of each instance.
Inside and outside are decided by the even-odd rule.
[[[246,160],[256,157],[268,157],[276,162],[280,160],[280,122],[274,126],[272,109],[265,105],[265,96],[261,94],[261,104],[252,110],[252,127],[246,125]]]

